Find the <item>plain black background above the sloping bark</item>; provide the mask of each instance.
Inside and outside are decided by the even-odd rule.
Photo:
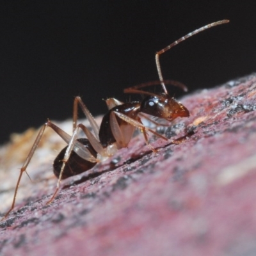
[[[158,79],[156,51],[216,20],[230,23],[161,56],[164,78],[193,91],[250,74],[255,13],[255,1],[1,1],[0,143],[70,118],[76,95],[93,115],[129,99],[124,88]]]

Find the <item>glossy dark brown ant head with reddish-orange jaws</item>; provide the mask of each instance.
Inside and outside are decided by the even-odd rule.
[[[150,95],[141,102],[140,111],[148,115],[171,121],[178,116],[189,116],[189,111],[168,94]]]

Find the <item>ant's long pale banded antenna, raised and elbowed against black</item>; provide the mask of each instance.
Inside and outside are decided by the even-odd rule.
[[[228,23],[228,22],[229,22],[229,20],[219,20],[219,21],[216,21],[216,22],[212,22],[211,24],[208,24],[208,25],[206,25],[202,28],[198,28],[195,31],[188,33],[188,35],[186,35],[186,36],[182,36],[181,38],[179,38],[178,40],[176,40],[172,44],[166,46],[161,51],[156,52],[156,68],[157,68],[158,76],[159,76],[161,85],[163,87],[164,93],[168,94],[168,92],[166,90],[166,87],[164,85],[164,79],[163,79],[163,75],[162,75],[162,71],[161,71],[161,67],[160,67],[160,62],[159,62],[159,55],[168,51],[168,50],[170,50],[173,46],[179,44],[180,42],[188,39],[190,36],[196,35],[196,34],[202,32],[202,31],[204,31],[205,29],[209,29],[209,28],[212,28],[214,26],[218,26],[218,25],[225,24],[225,23]]]

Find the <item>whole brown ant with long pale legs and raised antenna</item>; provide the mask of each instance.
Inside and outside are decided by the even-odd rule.
[[[156,67],[159,81],[140,84],[139,86],[130,87],[124,90],[125,93],[141,93],[147,95],[143,100],[141,100],[141,102],[131,101],[123,103],[114,98],[107,99],[106,104],[109,110],[103,116],[100,127],[97,125],[92,114],[88,108],[86,108],[80,97],[76,97],[74,100],[72,136],[68,135],[65,131],[60,129],[60,127],[54,125],[50,120],[48,120],[38,132],[28,157],[26,158],[22,168],[20,168],[20,175],[15,187],[12,206],[1,220],[4,220],[4,218],[6,218],[15,207],[15,200],[20,184],[20,179],[22,178],[24,172],[27,173],[26,169],[28,164],[31,161],[33,154],[35,153],[36,147],[38,146],[38,143],[40,142],[46,127],[51,127],[68,144],[67,147],[61,150],[60,154],[58,154],[54,160],[54,175],[56,175],[58,178],[58,182],[56,185],[56,190],[54,191],[51,199],[47,202],[47,204],[50,204],[52,200],[54,200],[60,188],[60,182],[62,179],[86,172],[87,170],[93,168],[93,166],[95,166],[95,164],[99,163],[100,161],[103,161],[109,156],[113,156],[116,150],[127,147],[129,141],[131,141],[135,128],[141,130],[148,147],[150,147],[153,152],[157,152],[157,150],[153,148],[148,142],[147,132],[151,132],[163,140],[168,139],[143,125],[140,117],[147,118],[150,120],[150,122],[158,124],[157,122],[154,122],[148,118],[147,115],[163,118],[169,122],[177,117],[189,116],[188,109],[168,94],[164,83],[173,84],[182,88],[184,91],[187,90],[186,86],[177,81],[164,81],[159,63],[159,56],[171,49],[173,46],[186,40],[187,38],[196,35],[205,29],[209,29],[220,24],[225,24],[227,22],[229,22],[229,20],[220,20],[203,26],[202,28],[188,33],[186,36],[182,36],[179,40],[168,45],[161,51],[156,52]],[[156,94],[140,90],[140,88],[150,86],[152,84],[161,84],[163,93]],[[83,124],[77,124],[78,106],[80,106],[84,115],[90,122],[93,132],[91,132]],[[84,132],[87,138],[77,138],[79,129]]]

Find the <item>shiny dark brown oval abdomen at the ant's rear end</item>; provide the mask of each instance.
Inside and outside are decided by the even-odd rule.
[[[87,139],[84,139],[84,138],[77,139],[77,141],[82,143],[84,145],[84,147],[86,147],[90,151],[90,153],[95,158],[97,158],[97,152],[92,147],[90,141],[88,141]],[[67,147],[65,147],[61,150],[60,154],[58,154],[58,156],[56,157],[56,159],[53,162],[53,172],[57,178],[60,175],[60,170],[61,170],[61,166],[63,164],[65,152],[67,151]],[[61,179],[67,179],[68,177],[77,175],[79,173],[83,173],[86,170],[90,170],[91,168],[93,168],[93,166],[95,166],[95,164],[97,164],[97,162],[92,163],[90,161],[86,161],[82,157],[78,156],[76,154],[76,152],[74,152],[74,150],[72,150],[70,157],[68,158],[68,161],[65,164],[65,168],[64,168],[63,175],[62,175]]]

